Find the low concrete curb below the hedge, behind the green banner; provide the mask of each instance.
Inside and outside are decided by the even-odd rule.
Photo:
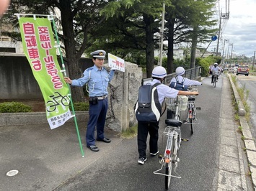
[[[72,113],[72,112],[71,112]],[[89,120],[89,111],[76,111],[76,121]],[[74,118],[66,123],[74,122]],[[0,126],[24,126],[31,124],[48,124],[45,112],[30,113],[0,113]]]

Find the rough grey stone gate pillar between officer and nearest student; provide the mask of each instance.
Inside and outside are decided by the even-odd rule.
[[[136,64],[125,62],[125,73],[115,70],[108,87],[107,128],[121,132],[137,123],[133,107],[141,79],[142,69]]]

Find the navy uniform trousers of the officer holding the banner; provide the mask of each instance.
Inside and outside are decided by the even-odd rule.
[[[87,146],[95,145],[94,131],[97,126],[97,139],[103,139],[104,126],[107,115],[107,98],[99,100],[97,104],[93,105],[89,103],[89,121],[87,124]]]

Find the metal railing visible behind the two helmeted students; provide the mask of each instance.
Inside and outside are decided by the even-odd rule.
[[[201,67],[195,67],[192,69],[185,70],[185,75],[183,75],[185,78],[188,78],[190,80],[198,80],[201,73]],[[169,85],[172,78],[176,76],[176,73],[168,74],[167,77],[164,80],[164,84]],[[144,78],[141,80],[141,85],[144,85],[148,82],[150,82],[152,78]]]

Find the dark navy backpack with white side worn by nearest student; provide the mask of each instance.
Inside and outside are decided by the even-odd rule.
[[[134,106],[137,121],[157,122],[161,116],[162,106],[159,103],[156,86],[146,84],[138,89],[138,101]]]

